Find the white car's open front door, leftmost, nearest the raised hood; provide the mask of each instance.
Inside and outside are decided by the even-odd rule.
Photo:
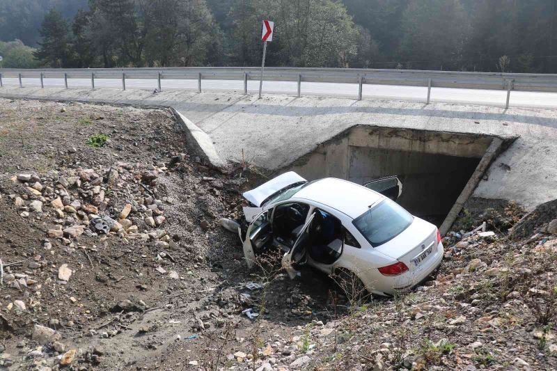
[[[249,225],[244,239],[244,258],[246,264],[251,269],[256,264],[256,254],[265,251],[267,246],[273,241],[273,231],[271,224],[271,212],[265,210]]]

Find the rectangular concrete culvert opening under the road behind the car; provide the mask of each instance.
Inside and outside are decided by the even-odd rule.
[[[463,189],[476,187],[477,171],[487,167],[478,165],[493,140],[479,134],[359,126],[323,143],[288,170],[308,180],[339,177],[358,184],[398,175],[403,184],[398,203],[441,226]]]

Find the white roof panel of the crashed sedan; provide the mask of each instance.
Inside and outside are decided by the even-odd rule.
[[[294,197],[327,205],[352,219],[357,218],[369,210],[370,205],[384,198],[366,187],[336,177],[315,180],[297,191]]]

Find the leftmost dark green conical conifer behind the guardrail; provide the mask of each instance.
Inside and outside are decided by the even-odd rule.
[[[68,22],[55,9],[45,15],[40,28],[42,41],[39,49],[34,53],[45,65],[61,68],[70,62]]]

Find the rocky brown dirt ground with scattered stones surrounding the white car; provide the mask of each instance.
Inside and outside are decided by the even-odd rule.
[[[186,148],[169,111],[0,100],[0,368],[557,368],[553,204],[463,212],[436,279],[358,297],[250,274],[218,220],[258,180]]]

